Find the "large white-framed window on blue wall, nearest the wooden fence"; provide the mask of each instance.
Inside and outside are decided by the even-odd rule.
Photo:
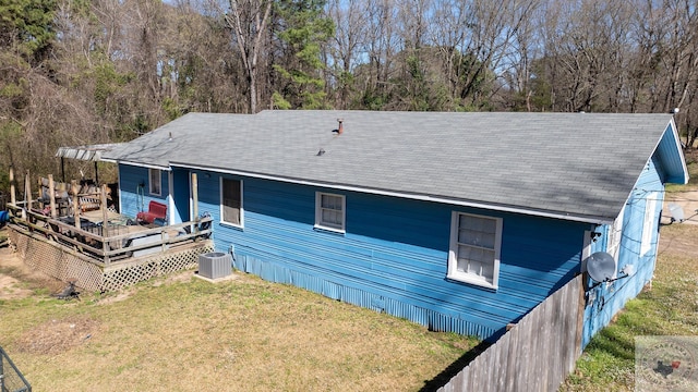
[[[454,211],[447,278],[496,289],[501,246],[501,218]]]

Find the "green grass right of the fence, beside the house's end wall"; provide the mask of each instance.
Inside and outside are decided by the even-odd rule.
[[[616,321],[591,340],[562,391],[631,391],[636,336],[698,335],[696,256],[671,245],[698,244],[698,226],[667,225],[662,238],[669,245],[661,247],[651,290],[628,302]]]

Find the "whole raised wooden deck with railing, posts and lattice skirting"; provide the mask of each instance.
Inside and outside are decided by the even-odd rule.
[[[212,219],[172,225],[141,225],[110,208],[110,191],[92,182],[38,180],[29,173],[24,200],[16,199],[10,168],[10,242],[24,262],[44,273],[89,291],[115,291],[182,269],[213,252]],[[36,197],[36,198],[34,198]],[[113,200],[112,200],[113,201]]]

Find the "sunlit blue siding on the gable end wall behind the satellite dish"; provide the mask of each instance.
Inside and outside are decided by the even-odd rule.
[[[659,242],[659,218],[664,198],[662,173],[661,161],[657,156],[652,157],[645,170],[642,170],[625,205],[617,270],[621,271],[626,265],[631,264],[635,267],[635,273],[607,286],[605,283],[600,284],[590,291],[585,310],[582,346],[586,346],[591,336],[605,327],[613,316],[629,299],[636,297],[652,279],[657,261],[657,244]],[[645,228],[645,209],[648,208],[649,203],[655,203],[657,208],[654,209],[651,225]],[[593,252],[606,250],[609,245],[605,243],[605,238],[610,229],[610,225],[601,228],[603,231],[602,238],[604,240],[594,244]],[[650,252],[645,255],[640,253],[643,230],[652,231]],[[592,283],[590,282],[590,284]]]

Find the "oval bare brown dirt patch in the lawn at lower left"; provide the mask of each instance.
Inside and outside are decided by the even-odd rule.
[[[83,344],[98,329],[99,322],[89,318],[49,320],[26,331],[15,344],[22,353],[56,355]]]

